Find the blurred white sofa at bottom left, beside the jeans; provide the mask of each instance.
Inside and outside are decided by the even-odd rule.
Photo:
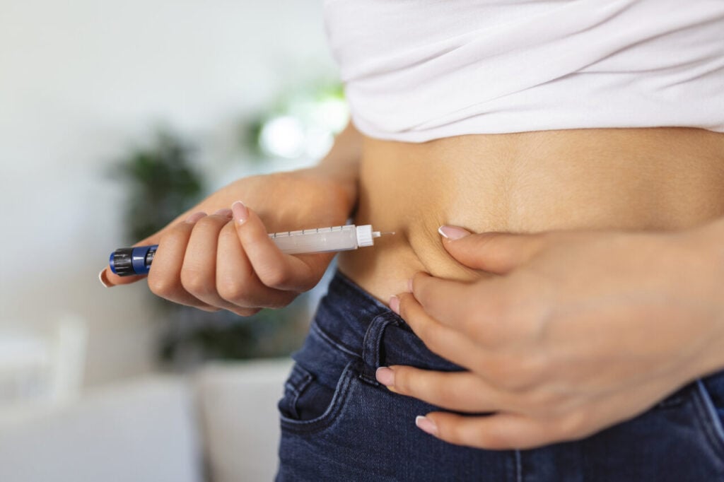
[[[270,481],[290,367],[209,365],[190,378],[151,376],[61,405],[3,410],[0,481]]]

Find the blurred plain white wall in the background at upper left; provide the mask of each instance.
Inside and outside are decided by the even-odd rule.
[[[150,370],[145,283],[97,279],[122,239],[109,166],[167,124],[222,182],[239,119],[334,75],[321,0],[0,0],[0,328],[77,314],[87,384]]]

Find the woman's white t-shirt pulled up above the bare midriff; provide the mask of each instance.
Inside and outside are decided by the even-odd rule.
[[[327,0],[325,20],[375,138],[724,132],[724,0]]]

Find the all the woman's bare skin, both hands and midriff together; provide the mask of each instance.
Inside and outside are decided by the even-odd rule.
[[[397,232],[343,253],[340,270],[379,300],[400,294],[392,308],[467,371],[392,367],[380,381],[441,407],[494,413],[418,421],[441,439],[536,447],[631,418],[724,367],[723,284],[712,274],[721,236],[702,227],[724,216],[723,187],[724,135],[704,130],[408,144],[365,138],[350,124],[316,168],[240,179],[138,244],[159,244],[148,276],[157,295],[248,315],[289,303],[331,260],[282,255],[266,232],[350,216]],[[446,244],[441,225],[518,236]],[[555,233],[521,241],[542,232]],[[138,279],[101,273],[109,285]]]

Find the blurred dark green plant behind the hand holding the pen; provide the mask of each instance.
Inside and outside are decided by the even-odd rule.
[[[188,140],[161,130],[151,143],[119,159],[113,174],[127,186],[124,226],[129,242],[159,231],[206,194],[195,152]],[[303,296],[287,308],[261,310],[246,318],[154,300],[165,324],[159,358],[179,370],[205,360],[289,355],[301,344],[308,322],[301,316],[307,305]]]

